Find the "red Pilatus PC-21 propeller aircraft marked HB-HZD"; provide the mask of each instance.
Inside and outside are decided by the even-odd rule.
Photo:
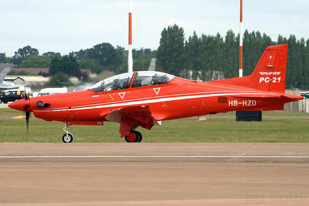
[[[66,124],[63,142],[72,142],[71,125],[120,123],[127,142],[140,142],[146,129],[173,120],[227,111],[283,110],[284,103],[303,99],[285,91],[287,44],[267,47],[250,76],[198,82],[154,71],[116,75],[90,89],[31,97],[9,107],[46,121]]]

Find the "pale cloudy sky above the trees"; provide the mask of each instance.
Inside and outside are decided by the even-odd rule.
[[[0,14],[0,52],[8,57],[28,45],[40,55],[103,42],[128,49],[129,0],[10,0],[0,2]],[[237,35],[239,20],[240,0],[132,0],[132,46],[157,49],[162,30],[174,24],[186,40],[194,31]],[[308,0],[243,0],[243,32],[307,40],[308,20]]]

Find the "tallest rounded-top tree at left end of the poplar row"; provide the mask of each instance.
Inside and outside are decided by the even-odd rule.
[[[168,26],[161,32],[160,45],[157,50],[158,64],[170,74],[178,75],[184,69],[185,62],[184,29]]]

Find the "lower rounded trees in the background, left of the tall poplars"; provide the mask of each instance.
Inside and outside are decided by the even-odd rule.
[[[151,58],[156,57],[156,51],[151,49],[133,49],[134,70],[146,70]],[[49,68],[49,74],[68,74],[76,77],[84,76],[80,69],[90,69],[91,72],[100,74],[104,70],[113,71],[115,74],[127,72],[128,50],[117,45],[116,48],[109,43],[102,43],[68,55],[47,52],[39,55],[39,51],[31,46],[19,48],[13,57],[6,57],[1,53],[1,63],[13,63],[19,68]],[[23,74],[27,74],[23,72]],[[31,74],[30,74],[31,75]],[[83,78],[85,80],[85,76]]]

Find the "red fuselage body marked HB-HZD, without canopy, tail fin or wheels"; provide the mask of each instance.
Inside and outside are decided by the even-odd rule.
[[[88,89],[32,97],[29,99],[29,108],[35,117],[47,121],[78,121],[80,124],[85,121],[84,124],[96,124],[98,121],[109,121],[105,115],[110,111],[127,106],[148,105],[151,116],[160,121],[236,110],[283,110],[283,104],[290,102],[290,99],[273,97],[273,100],[267,98],[268,101],[265,101],[266,98],[263,98],[265,95],[276,94],[176,77],[165,85],[103,92]],[[50,106],[38,108],[36,103],[39,101],[49,103]],[[276,108],[271,105],[276,105]],[[281,105],[280,108],[278,105]]]

